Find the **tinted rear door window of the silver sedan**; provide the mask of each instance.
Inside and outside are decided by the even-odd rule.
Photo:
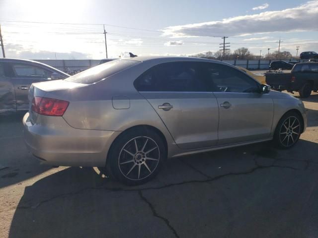
[[[134,86],[149,92],[205,92],[198,62],[166,62],[158,64],[139,76]]]

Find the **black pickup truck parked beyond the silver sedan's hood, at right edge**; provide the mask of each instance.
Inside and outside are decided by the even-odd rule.
[[[297,63],[290,73],[266,73],[266,83],[275,90],[299,92],[307,98],[312,91],[318,90],[318,63]]]

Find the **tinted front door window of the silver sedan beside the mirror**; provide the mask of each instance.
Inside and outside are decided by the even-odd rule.
[[[229,93],[258,92],[259,84],[240,70],[219,63],[209,63],[208,81],[211,91]]]

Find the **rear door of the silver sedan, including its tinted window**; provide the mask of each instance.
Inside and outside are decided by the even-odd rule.
[[[181,149],[214,146],[218,141],[217,100],[206,90],[200,72],[200,62],[166,62],[134,83]]]

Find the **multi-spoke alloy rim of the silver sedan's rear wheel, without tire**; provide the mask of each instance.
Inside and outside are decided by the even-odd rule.
[[[124,177],[141,180],[150,176],[159,164],[160,151],[155,140],[138,136],[129,140],[118,158],[119,170]]]

